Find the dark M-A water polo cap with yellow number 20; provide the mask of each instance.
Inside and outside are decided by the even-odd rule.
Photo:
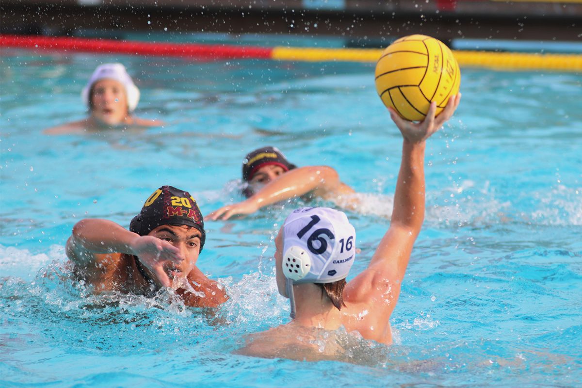
[[[190,226],[200,231],[200,251],[204,247],[206,233],[204,219],[194,197],[187,191],[172,186],[162,186],[145,201],[141,212],[129,225],[131,232],[147,236],[161,225]]]

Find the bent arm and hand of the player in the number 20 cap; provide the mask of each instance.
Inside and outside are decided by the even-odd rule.
[[[66,245],[66,254],[79,268],[97,270],[101,256],[107,253],[136,255],[141,264],[154,273],[161,286],[171,281],[164,272],[164,261],[183,260],[178,248],[153,236],[140,236],[105,219],[84,219],[73,227],[73,234]]]

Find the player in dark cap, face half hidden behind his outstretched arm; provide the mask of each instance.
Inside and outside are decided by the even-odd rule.
[[[329,166],[297,167],[275,147],[261,147],[245,156],[243,194],[248,198],[237,204],[226,205],[207,217],[212,220],[229,219],[233,215],[250,214],[275,202],[304,195],[349,205],[345,200],[354,190],[339,180],[338,172]]]

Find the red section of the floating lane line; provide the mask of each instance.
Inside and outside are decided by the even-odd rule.
[[[0,47],[46,49],[51,51],[99,52],[101,54],[179,56],[180,58],[204,59],[271,59],[273,51],[271,47],[153,43],[29,35],[0,35]]]

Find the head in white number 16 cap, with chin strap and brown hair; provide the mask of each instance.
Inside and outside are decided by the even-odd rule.
[[[275,240],[277,286],[295,306],[293,284],[322,284],[333,305],[343,304],[343,286],[356,257],[356,230],[345,213],[330,208],[303,208],[285,220]]]

